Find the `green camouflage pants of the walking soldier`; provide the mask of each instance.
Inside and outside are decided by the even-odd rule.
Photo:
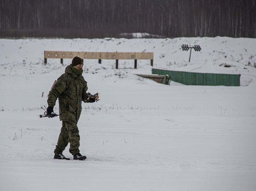
[[[72,155],[80,152],[80,136],[77,124],[72,121],[62,121],[62,127],[54,153],[61,154],[68,146],[68,143],[70,144],[69,152]]]

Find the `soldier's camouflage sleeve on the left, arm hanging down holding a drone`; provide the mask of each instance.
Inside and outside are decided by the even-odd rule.
[[[47,104],[48,106],[54,107],[56,104],[56,100],[59,95],[67,89],[67,81],[65,76],[60,76],[53,88],[50,90],[48,94]]]

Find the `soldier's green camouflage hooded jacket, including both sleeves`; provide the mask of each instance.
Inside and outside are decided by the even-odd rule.
[[[88,95],[86,93],[88,87],[83,76],[74,73],[71,67],[71,65],[67,66],[65,73],[58,78],[49,92],[47,103],[48,106],[54,107],[58,98],[59,112],[62,113],[60,121],[77,123],[82,111],[83,98]]]

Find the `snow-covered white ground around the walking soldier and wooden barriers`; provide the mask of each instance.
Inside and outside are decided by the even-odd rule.
[[[182,51],[181,45],[202,50]],[[256,39],[0,39],[0,190],[256,190]],[[150,60],[84,60],[86,161],[54,160],[59,119],[39,118],[71,59],[44,51],[154,52],[154,68],[241,74],[241,86],[163,85]],[[43,94],[44,92],[44,94]],[[43,94],[43,96],[42,96]],[[58,112],[58,104],[54,108]]]

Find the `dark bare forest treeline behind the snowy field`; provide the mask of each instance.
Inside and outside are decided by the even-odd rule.
[[[256,37],[256,0],[1,0],[0,37]]]

